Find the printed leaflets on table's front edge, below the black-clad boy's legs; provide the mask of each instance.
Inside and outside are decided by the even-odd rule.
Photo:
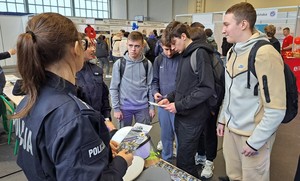
[[[160,159],[160,161],[157,162],[155,166],[161,167],[166,171],[168,171],[173,181],[198,181],[199,180],[198,178],[188,174],[187,172],[181,170],[180,168],[170,164],[169,162],[163,159]]]

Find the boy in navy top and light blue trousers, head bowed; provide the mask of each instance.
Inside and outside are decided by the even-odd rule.
[[[156,102],[162,100],[176,88],[176,72],[181,59],[180,55],[171,49],[171,43],[167,41],[166,35],[161,36],[163,52],[155,58],[153,64],[152,93]],[[158,120],[160,124],[160,138],[162,143],[162,158],[168,162],[172,161],[173,142],[175,140],[174,117],[175,114],[158,107]]]

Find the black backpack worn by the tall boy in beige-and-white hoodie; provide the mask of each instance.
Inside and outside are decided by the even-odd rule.
[[[255,71],[255,56],[257,50],[264,45],[272,45],[265,40],[259,40],[252,47],[248,58],[248,72],[247,72],[247,88],[250,88],[250,71],[257,78]],[[284,77],[285,77],[285,90],[286,90],[286,112],[281,123],[288,123],[293,120],[298,114],[298,89],[296,84],[296,78],[289,66],[284,63]],[[265,90],[266,88],[264,88]],[[254,88],[254,95],[258,96],[258,83]],[[266,102],[270,102],[270,98],[266,97]]]

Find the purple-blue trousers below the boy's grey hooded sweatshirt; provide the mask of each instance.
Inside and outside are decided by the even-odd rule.
[[[149,114],[149,108],[138,109],[138,110],[121,110],[123,114],[123,119],[119,122],[119,128],[125,126],[132,126],[132,120],[134,118],[135,122],[148,124],[151,123],[151,117]]]

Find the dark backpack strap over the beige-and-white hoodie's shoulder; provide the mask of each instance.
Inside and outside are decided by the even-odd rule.
[[[256,71],[255,71],[255,66],[254,66],[257,50],[261,46],[268,45],[268,44],[270,44],[269,41],[259,40],[253,45],[252,49],[250,50],[250,53],[249,53],[249,56],[248,56],[248,71],[247,71],[247,88],[248,89],[250,89],[250,87],[251,87],[251,85],[250,85],[250,71],[257,78]],[[258,86],[256,85],[255,87],[258,87]],[[254,92],[256,92],[256,91],[254,90]]]

